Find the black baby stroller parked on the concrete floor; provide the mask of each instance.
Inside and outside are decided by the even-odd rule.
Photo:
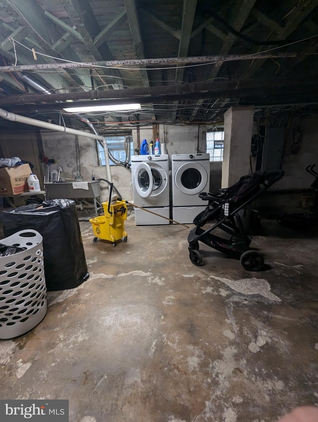
[[[199,240],[211,248],[217,249],[233,258],[240,259],[241,265],[247,271],[259,271],[264,265],[264,257],[260,253],[249,250],[251,237],[247,236],[239,211],[260,197],[264,191],[280,180],[283,170],[256,171],[242,176],[235,185],[220,189],[218,195],[201,192],[199,197],[209,201],[208,206],[193,220],[196,225],[189,235],[189,258],[192,264],[202,265],[199,252]],[[202,227],[209,221],[216,220],[208,229]],[[212,234],[216,228],[227,233],[229,239]]]

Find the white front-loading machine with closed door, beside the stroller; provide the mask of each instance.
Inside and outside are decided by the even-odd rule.
[[[208,205],[199,193],[210,189],[210,154],[172,154],[171,163],[172,219],[192,223]]]

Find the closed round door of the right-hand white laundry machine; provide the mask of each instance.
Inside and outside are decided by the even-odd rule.
[[[207,172],[197,162],[182,164],[174,176],[175,186],[185,195],[198,195],[206,188],[207,182]]]

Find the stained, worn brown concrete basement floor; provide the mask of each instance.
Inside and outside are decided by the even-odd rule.
[[[272,422],[318,405],[317,237],[266,224],[252,243],[266,271],[248,273],[204,245],[192,265],[181,226],[132,214],[114,248],[81,222],[90,277],[0,341],[0,398],[69,399],[70,422]]]

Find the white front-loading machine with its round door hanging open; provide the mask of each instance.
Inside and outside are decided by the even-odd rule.
[[[135,207],[136,225],[169,224],[168,154],[133,155],[131,173],[134,204],[155,213]]]

